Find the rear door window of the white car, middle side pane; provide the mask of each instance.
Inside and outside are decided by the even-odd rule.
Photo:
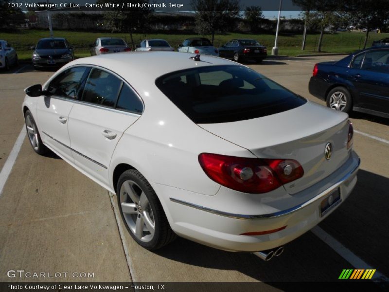
[[[122,81],[116,76],[106,71],[93,68],[85,84],[82,100],[113,108],[121,86]]]

